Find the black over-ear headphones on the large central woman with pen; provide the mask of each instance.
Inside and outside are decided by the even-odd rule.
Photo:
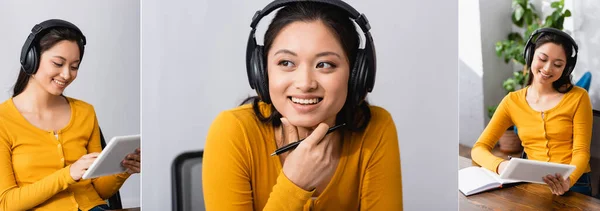
[[[348,81],[348,98],[351,98],[355,105],[357,105],[364,100],[367,92],[373,90],[373,85],[375,84],[375,46],[373,45],[373,38],[369,32],[371,26],[369,25],[367,17],[340,0],[276,0],[268,4],[264,9],[256,11],[254,17],[252,17],[252,23],[250,24],[252,31],[250,31],[246,48],[246,71],[248,73],[250,87],[256,90],[258,97],[263,102],[271,103],[266,69],[267,59],[264,58],[264,46],[256,44],[254,33],[258,22],[264,16],[277,8],[297,2],[318,2],[340,8],[346,11],[350,15],[349,18],[354,19],[363,31],[365,35],[365,47],[364,49],[358,49],[356,61],[354,62],[354,66],[351,67],[350,79]]]

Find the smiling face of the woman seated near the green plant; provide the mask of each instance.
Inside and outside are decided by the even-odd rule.
[[[552,42],[545,43],[535,49],[531,63],[533,83],[552,85],[565,70],[567,57],[561,45]]]

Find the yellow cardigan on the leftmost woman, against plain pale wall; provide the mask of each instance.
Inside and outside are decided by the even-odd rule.
[[[30,124],[12,98],[0,104],[0,210],[89,210],[106,204],[129,174],[74,181],[70,165],[102,151],[94,108],[67,98],[71,119],[58,131]]]

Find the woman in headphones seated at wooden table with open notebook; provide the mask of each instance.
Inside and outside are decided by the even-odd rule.
[[[568,34],[552,28],[536,31],[527,43],[527,87],[504,97],[473,146],[473,160],[501,173],[508,161],[492,155],[491,150],[504,131],[516,125],[528,159],[576,166],[566,179],[559,174],[544,177],[553,194],[573,190],[591,195],[587,172],[592,105],[587,92],[571,83],[577,44]]]

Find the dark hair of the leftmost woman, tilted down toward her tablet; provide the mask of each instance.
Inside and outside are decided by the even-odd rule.
[[[79,63],[81,64],[81,60],[83,59],[83,43],[78,42],[82,40],[81,35],[77,33],[77,31],[65,28],[65,27],[56,27],[49,29],[40,39],[35,40],[33,45],[36,45],[36,48],[39,49],[38,58],[41,60],[42,53],[47,51],[48,49],[54,47],[56,43],[59,43],[63,40],[74,41],[79,46]],[[39,68],[39,67],[36,67]],[[19,76],[17,77],[17,82],[15,82],[15,86],[13,88],[13,97],[21,94],[25,87],[27,87],[27,83],[29,83],[29,78],[31,76],[25,73],[22,69],[19,70]]]

